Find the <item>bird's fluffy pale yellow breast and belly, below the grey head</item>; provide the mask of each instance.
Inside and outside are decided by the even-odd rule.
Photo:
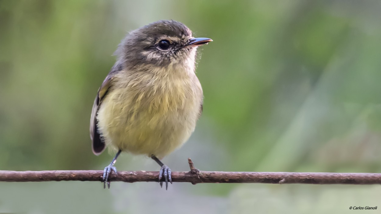
[[[203,100],[194,69],[158,69],[115,74],[97,116],[107,146],[162,158],[194,131]]]

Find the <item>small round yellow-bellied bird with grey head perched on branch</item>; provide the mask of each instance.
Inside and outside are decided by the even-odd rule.
[[[162,20],[133,30],[118,45],[90,119],[93,153],[106,146],[116,152],[104,168],[104,188],[110,188],[121,152],[148,155],[161,166],[160,186],[172,183],[170,168],[160,160],[189,139],[202,113],[195,57],[197,47],[211,41],[192,37],[181,22]]]

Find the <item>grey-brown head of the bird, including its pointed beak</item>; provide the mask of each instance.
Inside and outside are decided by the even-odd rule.
[[[181,22],[162,20],[130,32],[116,54],[127,67],[194,64],[197,47],[211,41],[194,38],[192,31]]]

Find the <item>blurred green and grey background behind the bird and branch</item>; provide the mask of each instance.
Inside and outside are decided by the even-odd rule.
[[[195,133],[164,158],[187,171],[381,172],[379,0],[0,0],[0,169],[103,169],[89,121],[126,32],[174,19],[200,50]],[[118,170],[159,168],[122,155]],[[347,213],[354,185],[0,183],[0,212]],[[356,211],[360,212],[360,211]]]

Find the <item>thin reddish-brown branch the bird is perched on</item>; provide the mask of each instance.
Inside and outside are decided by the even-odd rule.
[[[211,172],[199,171],[188,159],[189,172],[172,172],[173,182],[199,183],[264,183],[264,184],[381,184],[381,173],[330,172]],[[120,171],[110,175],[111,181],[157,182],[159,172]],[[101,170],[79,171],[0,171],[0,181],[101,181]]]

